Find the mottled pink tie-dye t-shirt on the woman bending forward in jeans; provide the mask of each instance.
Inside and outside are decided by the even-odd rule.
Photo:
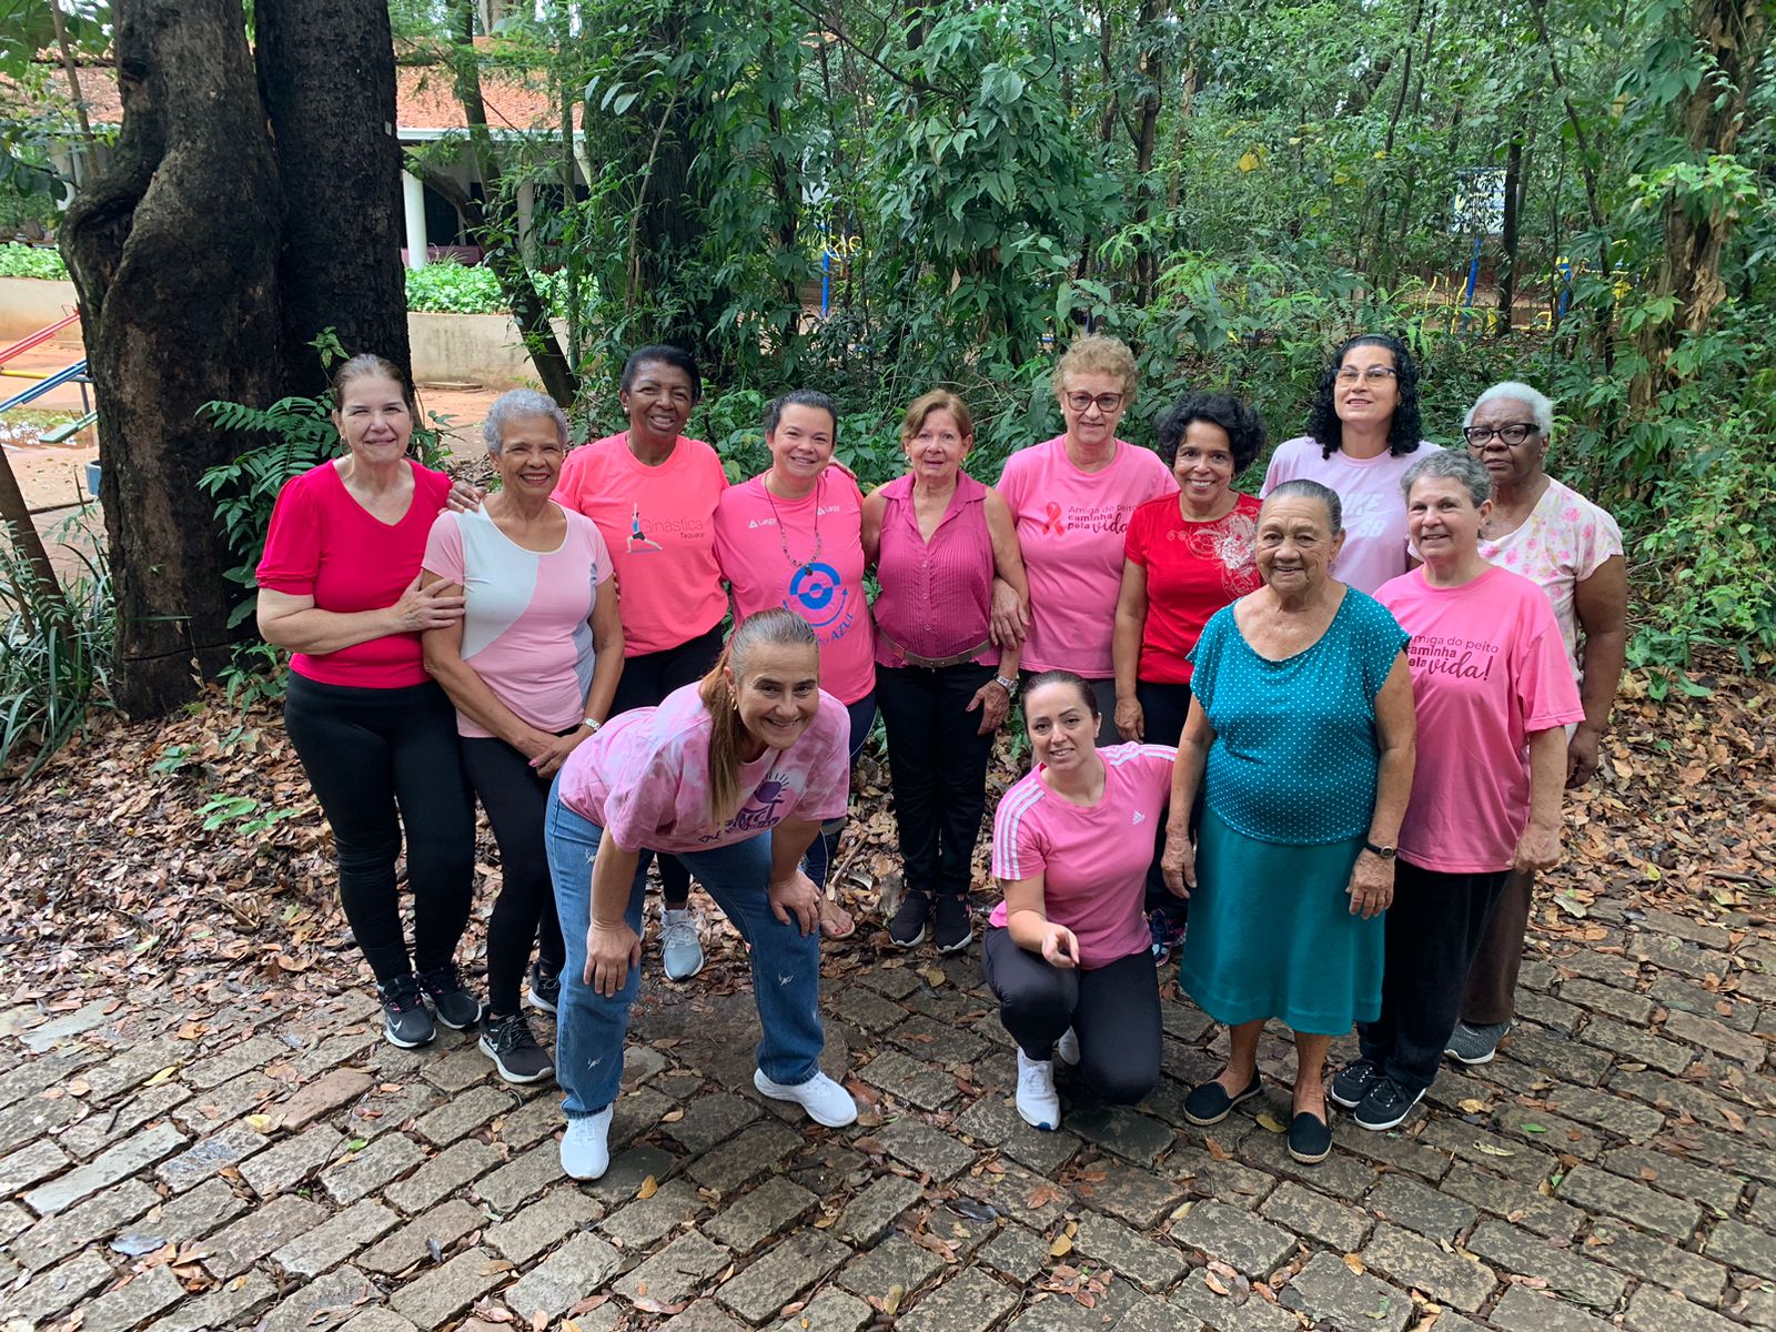
[[[741,769],[748,792],[726,824],[709,819],[712,719],[698,684],[659,707],[613,718],[561,765],[561,803],[630,851],[709,851],[776,828],[785,819],[824,822],[851,801],[851,718],[821,693],[821,710],[789,749],[765,749]]]

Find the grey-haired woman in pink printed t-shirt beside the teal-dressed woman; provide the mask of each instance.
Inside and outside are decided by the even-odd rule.
[[[1382,584],[1412,641],[1419,762],[1387,908],[1382,1012],[1332,1099],[1389,1130],[1437,1076],[1487,916],[1511,870],[1559,861],[1566,725],[1584,718],[1547,597],[1487,563],[1492,481],[1465,453],[1433,453],[1403,481],[1423,568]]]

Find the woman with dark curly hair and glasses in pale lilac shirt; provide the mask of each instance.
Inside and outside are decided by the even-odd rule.
[[[1412,568],[1399,478],[1426,453],[1419,439],[1419,368],[1389,334],[1344,343],[1320,380],[1307,433],[1270,455],[1263,492],[1284,481],[1320,481],[1344,504],[1344,549],[1332,577],[1371,597]]]

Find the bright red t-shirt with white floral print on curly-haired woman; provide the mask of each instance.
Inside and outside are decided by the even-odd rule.
[[[1122,552],[1147,570],[1147,623],[1135,673],[1149,684],[1190,684],[1190,654],[1222,606],[1259,584],[1254,496],[1234,496],[1215,522],[1186,522],[1177,496],[1151,499],[1128,520]]]

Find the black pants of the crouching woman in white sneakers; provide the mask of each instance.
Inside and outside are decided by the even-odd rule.
[[[1160,977],[1142,948],[1108,966],[1060,970],[989,929],[980,964],[1000,1021],[1030,1058],[1053,1058],[1071,1027],[1080,1076],[1106,1101],[1133,1105],[1160,1083]]]

